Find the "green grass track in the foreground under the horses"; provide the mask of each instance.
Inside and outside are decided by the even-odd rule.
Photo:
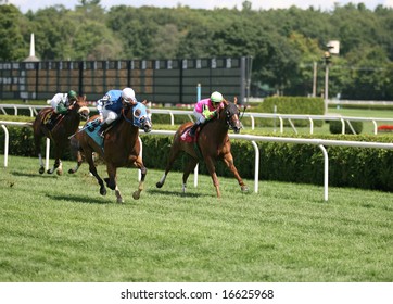
[[[220,177],[218,200],[207,176],[182,195],[181,174],[156,189],[151,169],[135,201],[137,172],[121,169],[117,204],[86,164],[40,176],[36,159],[10,156],[1,170],[0,281],[393,280],[393,193],[330,188],[326,203],[322,187],[244,194]]]

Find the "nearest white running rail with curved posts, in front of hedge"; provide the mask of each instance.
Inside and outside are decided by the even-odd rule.
[[[15,123],[15,122],[2,122],[0,121],[1,127],[5,131],[5,142],[4,142],[4,167],[8,166],[8,153],[9,153],[9,135],[5,126],[21,126],[26,127],[30,126],[28,123]],[[175,131],[173,130],[152,130],[148,135],[161,135],[161,136],[173,136]],[[324,200],[328,201],[329,192],[329,156],[325,145],[339,145],[339,147],[356,147],[356,148],[373,148],[373,149],[389,149],[393,150],[393,143],[384,142],[364,142],[364,141],[344,141],[344,140],[327,140],[327,139],[305,139],[305,138],[286,138],[286,137],[267,137],[267,136],[251,136],[251,135],[237,135],[229,134],[230,138],[251,141],[254,151],[255,151],[255,164],[254,164],[254,192],[258,192],[258,181],[259,181],[259,150],[256,144],[256,141],[265,142],[281,142],[281,143],[294,143],[294,144],[313,144],[318,145],[324,154]],[[47,169],[49,164],[49,140],[47,140]],[[198,170],[195,174],[195,187],[198,183]],[[140,173],[138,173],[140,178]]]

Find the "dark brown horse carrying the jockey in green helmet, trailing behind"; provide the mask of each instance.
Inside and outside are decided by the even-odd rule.
[[[50,118],[50,115],[53,114],[54,110],[52,107],[42,109],[33,123],[34,142],[36,154],[39,159],[40,174],[43,174],[45,172],[41,155],[42,138],[49,138],[54,142],[54,165],[51,169],[48,169],[47,173],[52,174],[58,169],[58,175],[62,175],[63,166],[60,159],[63,155],[65,148],[69,145],[68,136],[78,129],[80,119],[87,121],[89,117],[90,110],[87,107],[86,97],[77,97],[76,101],[68,109],[68,113],[61,115],[51,130],[48,129],[46,123]]]

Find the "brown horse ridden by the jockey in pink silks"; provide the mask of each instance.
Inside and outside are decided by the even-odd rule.
[[[234,132],[239,132],[241,129],[241,123],[239,121],[239,109],[234,103],[224,101],[224,107],[217,111],[217,118],[207,122],[203,128],[199,131],[196,143],[199,150],[205,161],[207,170],[213,179],[213,185],[216,188],[217,198],[221,197],[219,191],[219,182],[214,166],[214,161],[220,159],[225,162],[227,167],[233,173],[238,180],[241,190],[248,191],[248,187],[241,179],[238,169],[233,164],[233,156],[230,152],[230,141],[228,137],[228,130],[233,129]],[[187,179],[190,173],[195,168],[199,163],[199,156],[195,151],[193,142],[186,141],[185,137],[192,126],[192,123],[182,124],[175,134],[172,144],[168,163],[165,173],[161,180],[156,183],[157,188],[163,187],[166,176],[168,175],[175,160],[178,157],[181,151],[189,154],[189,163],[183,168],[182,175],[182,191],[186,192]]]

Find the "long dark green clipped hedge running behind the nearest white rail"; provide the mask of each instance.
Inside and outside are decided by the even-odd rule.
[[[9,127],[10,154],[36,156],[31,128]],[[275,135],[277,136],[277,135]],[[141,135],[143,161],[148,168],[164,169],[172,137]],[[309,137],[310,138],[310,137]],[[392,142],[391,136],[326,136],[334,140]],[[0,153],[4,153],[4,132],[0,132]],[[232,140],[234,164],[243,178],[254,178],[254,148],[251,142]],[[259,179],[324,185],[324,155],[312,144],[257,142],[259,148]],[[42,142],[42,149],[45,141]],[[52,147],[53,148],[53,147]],[[393,191],[393,151],[370,148],[326,147],[329,154],[329,185]],[[45,152],[45,150],[42,150]],[[51,152],[53,155],[53,152]],[[187,155],[175,163],[181,170]],[[71,160],[66,152],[63,160]],[[200,173],[207,174],[204,164]],[[217,162],[218,176],[231,176],[223,162]],[[181,181],[179,181],[181,182]]]

